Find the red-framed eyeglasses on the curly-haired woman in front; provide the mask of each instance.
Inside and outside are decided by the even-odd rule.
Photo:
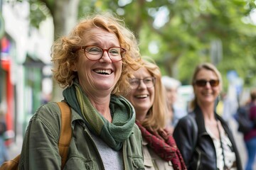
[[[110,47],[109,49],[103,49],[102,47],[96,45],[75,47],[73,48],[72,52],[77,52],[78,50],[84,50],[85,57],[92,61],[100,60],[103,53],[106,51],[112,62],[121,61],[126,52],[126,50],[122,47]]]

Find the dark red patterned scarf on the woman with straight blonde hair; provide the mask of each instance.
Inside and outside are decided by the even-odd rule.
[[[179,152],[176,142],[172,135],[169,135],[166,130],[159,130],[157,132],[149,132],[140,123],[136,122],[139,129],[142,131],[142,137],[146,139],[154,152],[164,159],[166,162],[171,161],[175,170],[184,170],[186,165]]]

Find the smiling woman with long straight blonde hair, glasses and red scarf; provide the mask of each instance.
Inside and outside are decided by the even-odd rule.
[[[167,106],[159,67],[144,60],[144,67],[132,74],[131,91],[124,95],[134,106],[142,131],[145,169],[186,169],[174,137],[165,129]]]

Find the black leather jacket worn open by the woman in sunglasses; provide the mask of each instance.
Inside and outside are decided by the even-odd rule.
[[[233,145],[238,170],[242,170],[242,164],[232,132],[228,128],[227,123],[225,123],[219,115],[215,115],[216,118],[220,120],[220,123],[223,125],[223,128]],[[176,140],[177,147],[181,151],[188,169],[217,169],[216,152],[213,140],[210,135],[208,135],[208,132],[206,132],[203,113],[199,107],[178,121],[178,124],[174,129],[174,139]]]

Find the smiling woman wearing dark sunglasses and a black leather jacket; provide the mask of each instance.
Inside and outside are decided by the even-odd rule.
[[[199,64],[192,79],[191,112],[179,120],[174,139],[188,169],[242,170],[238,149],[227,123],[215,112],[222,89],[213,64]]]

